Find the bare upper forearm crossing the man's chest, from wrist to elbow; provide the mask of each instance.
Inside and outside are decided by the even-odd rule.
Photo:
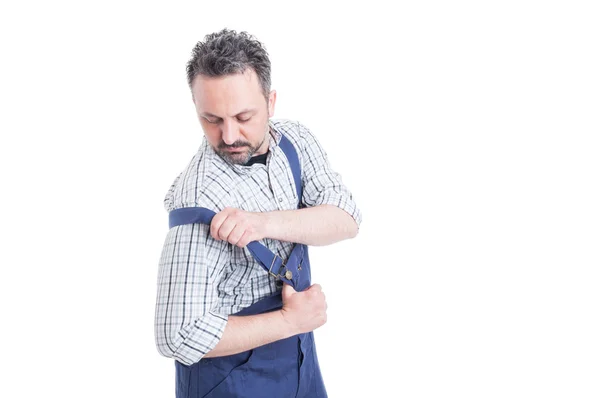
[[[265,237],[312,246],[353,238],[358,226],[352,216],[333,205],[262,213]]]

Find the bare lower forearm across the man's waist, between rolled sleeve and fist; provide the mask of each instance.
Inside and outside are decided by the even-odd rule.
[[[221,340],[204,357],[237,354],[295,334],[280,310],[258,315],[230,315]]]

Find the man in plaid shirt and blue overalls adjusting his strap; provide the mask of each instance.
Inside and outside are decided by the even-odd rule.
[[[261,43],[227,29],[187,65],[204,140],[165,197],[155,318],[177,397],[327,396],[307,246],[356,236],[361,214],[315,136],[270,119],[270,71]]]

